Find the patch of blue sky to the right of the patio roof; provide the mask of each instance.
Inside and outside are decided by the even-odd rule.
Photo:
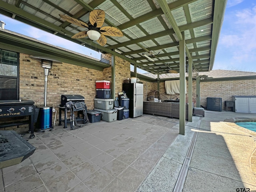
[[[255,0],[228,0],[213,69],[256,72]]]

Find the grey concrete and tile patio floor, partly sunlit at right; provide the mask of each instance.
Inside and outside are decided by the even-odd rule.
[[[54,126],[28,139],[32,156],[0,170],[0,191],[171,192],[195,134],[183,191],[256,190],[256,136],[224,122],[235,117],[255,114],[205,111],[186,122],[185,136],[178,119],[148,114],[76,130]]]

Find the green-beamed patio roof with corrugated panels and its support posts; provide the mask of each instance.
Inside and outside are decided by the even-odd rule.
[[[191,122],[192,72],[212,70],[226,2],[227,0],[141,0],[132,2],[66,0],[52,3],[48,0],[33,2],[2,0],[0,13],[76,42],[81,46],[106,55],[109,54],[111,56],[109,61],[113,98],[117,96],[118,91],[121,91],[116,90],[116,84],[120,83],[116,77],[117,58],[124,59],[134,66],[135,77],[137,77],[137,68],[157,74],[158,90],[161,74],[178,72],[180,74],[179,133],[185,134],[185,74],[188,73],[188,121]],[[122,31],[123,36],[106,36],[104,46],[99,43],[99,40],[96,43],[86,35],[86,38],[72,38],[74,34],[83,32],[86,28],[71,24],[60,15],[80,20],[86,26],[86,23],[89,22],[90,12],[95,9],[105,12],[103,26],[118,28]],[[3,48],[12,50],[17,50],[17,46],[20,46],[12,39],[3,39],[1,45]],[[27,49],[26,46],[23,52],[32,54],[31,49]],[[61,62],[66,61],[66,56],[52,54],[48,50],[38,53]],[[76,58],[74,58],[74,62],[70,62],[70,64],[88,66],[97,68],[97,70],[103,70],[102,68],[105,66],[104,63],[93,63],[96,65],[92,66],[88,60],[85,60],[81,64],[81,61],[77,61]],[[196,95],[197,107],[200,107],[199,78],[197,78]]]

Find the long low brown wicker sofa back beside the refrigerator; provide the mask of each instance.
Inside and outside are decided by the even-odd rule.
[[[194,108],[194,103],[192,103]],[[143,101],[143,113],[168,116],[171,118],[180,117],[180,103],[177,102],[151,102]],[[186,103],[186,120],[188,120],[188,104]]]

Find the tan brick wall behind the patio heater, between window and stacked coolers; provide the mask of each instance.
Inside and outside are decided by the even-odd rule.
[[[76,94],[84,96],[87,108],[92,109],[96,96],[95,81],[102,79],[103,72],[98,70],[66,63],[53,64],[48,75],[47,106],[58,110],[62,94]],[[40,61],[25,54],[20,54],[20,99],[34,100],[38,106],[44,104],[44,69]]]

